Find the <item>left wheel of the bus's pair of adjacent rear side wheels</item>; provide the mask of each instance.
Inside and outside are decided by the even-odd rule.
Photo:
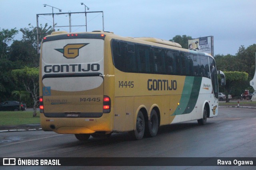
[[[140,140],[144,136],[144,131],[145,131],[145,120],[144,116],[141,111],[139,111],[137,119],[136,119],[136,129],[135,131],[130,132],[130,136],[133,139]]]

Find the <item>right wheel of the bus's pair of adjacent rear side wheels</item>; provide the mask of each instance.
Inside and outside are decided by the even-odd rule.
[[[158,132],[158,117],[155,110],[150,113],[150,120],[148,121],[148,136],[155,137]]]

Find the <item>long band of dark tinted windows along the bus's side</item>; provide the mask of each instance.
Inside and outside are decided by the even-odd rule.
[[[208,56],[112,39],[114,66],[124,72],[203,76],[211,78]],[[214,63],[215,64],[215,63]],[[212,80],[214,81],[214,80]]]

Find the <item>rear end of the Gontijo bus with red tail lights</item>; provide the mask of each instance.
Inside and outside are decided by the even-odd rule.
[[[44,131],[111,132],[111,100],[104,96],[101,33],[53,33],[40,56],[40,119]]]

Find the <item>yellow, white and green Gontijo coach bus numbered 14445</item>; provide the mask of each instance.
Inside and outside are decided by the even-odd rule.
[[[78,140],[129,132],[154,137],[158,127],[218,115],[214,58],[155,38],[111,32],[53,32],[40,55],[44,131]]]

